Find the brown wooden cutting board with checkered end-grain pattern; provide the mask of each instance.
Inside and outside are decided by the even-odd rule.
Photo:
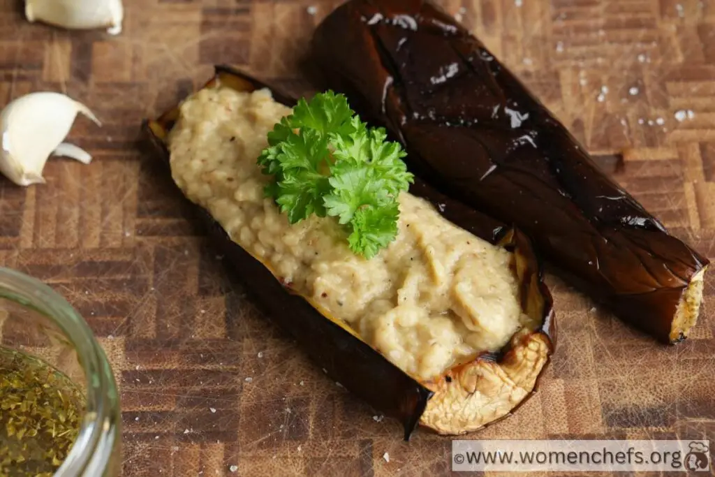
[[[124,475],[443,476],[450,439],[400,426],[328,380],[257,313],[182,201],[148,166],[139,123],[229,63],[295,92],[312,29],[337,2],[125,0],[124,33],[28,24],[1,2],[0,94],[91,107],[46,185],[0,181],[0,264],[76,307],[121,387]],[[704,0],[443,2],[616,180],[715,258],[715,4]],[[687,112],[691,111],[691,114]],[[690,117],[689,117],[690,116]],[[666,347],[548,277],[558,348],[541,390],[468,438],[713,438],[715,281],[699,324]],[[389,462],[383,456],[389,456]]]

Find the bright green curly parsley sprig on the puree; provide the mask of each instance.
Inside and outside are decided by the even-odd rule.
[[[352,252],[372,258],[398,233],[398,195],[408,190],[405,152],[371,128],[342,94],[300,99],[292,114],[268,133],[258,158],[273,176],[266,195],[295,224],[310,215],[337,217]]]

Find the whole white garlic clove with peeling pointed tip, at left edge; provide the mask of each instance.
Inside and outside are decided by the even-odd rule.
[[[64,94],[30,93],[8,104],[0,114],[0,172],[26,186],[44,183],[42,169],[50,154],[89,164],[91,155],[63,142],[78,112],[102,125],[89,108]]]

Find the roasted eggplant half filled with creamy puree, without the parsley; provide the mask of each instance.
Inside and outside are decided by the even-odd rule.
[[[335,221],[290,224],[256,159],[295,101],[226,67],[144,127],[250,295],[335,380],[409,438],[474,431],[533,393],[553,350],[551,295],[518,230],[420,181],[370,260]],[[438,212],[467,224],[460,228]]]

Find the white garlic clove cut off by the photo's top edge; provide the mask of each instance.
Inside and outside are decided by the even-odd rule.
[[[122,32],[122,0],[25,0],[28,21],[67,29],[93,29],[106,26],[107,32]]]

